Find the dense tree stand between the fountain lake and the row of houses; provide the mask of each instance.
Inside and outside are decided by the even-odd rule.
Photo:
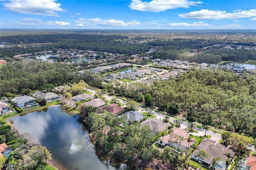
[[[182,155],[172,149],[160,153],[152,145],[158,136],[155,137],[149,126],[130,124],[125,116],[116,117],[106,110],[98,114],[91,106],[82,105],[80,109],[80,118],[88,126],[95,147],[105,155],[152,169],[181,170]],[[155,159],[158,160],[153,162]]]

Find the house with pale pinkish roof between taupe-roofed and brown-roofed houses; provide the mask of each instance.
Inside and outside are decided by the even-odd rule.
[[[162,138],[160,138],[157,143],[159,145],[162,145],[165,147],[166,145],[176,147],[178,149],[184,149],[187,150],[191,145],[193,145],[196,140],[194,138],[191,139],[191,142],[188,143],[188,131],[184,129],[180,129],[178,127],[173,127],[172,128],[173,133],[168,134]],[[178,141],[177,137],[183,137],[184,140]]]

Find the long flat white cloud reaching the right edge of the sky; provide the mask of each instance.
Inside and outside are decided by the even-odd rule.
[[[214,11],[214,10],[200,10],[193,11],[187,14],[179,14],[180,18],[192,18],[198,20],[224,20],[224,19],[237,19],[248,18],[256,16],[256,9],[248,11],[239,11],[234,13],[227,13],[226,11]]]

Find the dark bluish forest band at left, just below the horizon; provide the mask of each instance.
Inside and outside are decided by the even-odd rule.
[[[1,57],[13,57],[16,54],[36,53],[55,49],[78,49],[103,51],[119,54],[145,53],[151,45],[123,44],[127,39],[119,35],[49,34],[49,35],[11,35],[1,37],[1,42],[10,47],[1,48]]]

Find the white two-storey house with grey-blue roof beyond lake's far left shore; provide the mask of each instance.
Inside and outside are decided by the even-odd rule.
[[[31,96],[22,96],[13,100],[14,104],[20,108],[32,107],[38,105],[36,99]]]

